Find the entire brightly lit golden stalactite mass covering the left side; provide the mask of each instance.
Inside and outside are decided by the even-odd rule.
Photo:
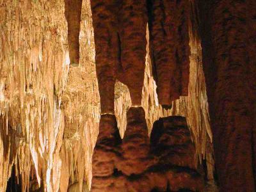
[[[0,1],[0,191],[12,172],[22,191],[32,191],[29,180],[42,191],[90,185],[100,118],[90,1],[79,68],[69,67],[64,8],[64,1]]]

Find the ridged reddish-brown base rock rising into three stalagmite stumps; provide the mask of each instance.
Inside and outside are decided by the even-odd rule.
[[[157,121],[149,139],[143,108],[130,108],[121,140],[115,116],[102,117],[93,154],[92,191],[203,190],[186,118]]]

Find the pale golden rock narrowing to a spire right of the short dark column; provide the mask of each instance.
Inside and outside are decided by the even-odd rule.
[[[95,44],[90,0],[83,1],[80,32],[79,67],[70,67],[62,108],[65,131],[61,146],[61,191],[75,190],[78,183],[90,189],[92,151],[97,140],[100,108],[95,71]]]

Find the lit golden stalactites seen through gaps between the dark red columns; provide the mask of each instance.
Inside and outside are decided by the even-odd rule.
[[[191,16],[195,19],[195,15]],[[191,49],[188,97],[180,97],[172,102],[172,109],[164,109],[159,104],[156,93],[151,60],[148,57],[149,45],[147,44],[147,56],[145,63],[145,76],[142,93],[142,106],[145,109],[148,133],[150,134],[156,120],[164,116],[186,116],[193,142],[196,146],[196,154],[200,162],[207,160],[209,179],[213,179],[214,159],[212,157],[212,132],[210,127],[208,102],[205,89],[204,72],[202,68],[202,47],[198,33],[193,31],[192,23],[189,22],[189,45]],[[147,39],[149,38],[147,32]],[[116,83],[115,115],[121,136],[124,136],[127,119],[126,112],[131,107],[129,90],[122,83]]]

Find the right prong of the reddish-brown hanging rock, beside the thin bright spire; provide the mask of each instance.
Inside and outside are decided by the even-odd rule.
[[[146,56],[147,1],[123,0],[118,15],[120,68],[118,80],[126,84],[133,105],[141,105]],[[119,2],[118,2],[119,3]]]

